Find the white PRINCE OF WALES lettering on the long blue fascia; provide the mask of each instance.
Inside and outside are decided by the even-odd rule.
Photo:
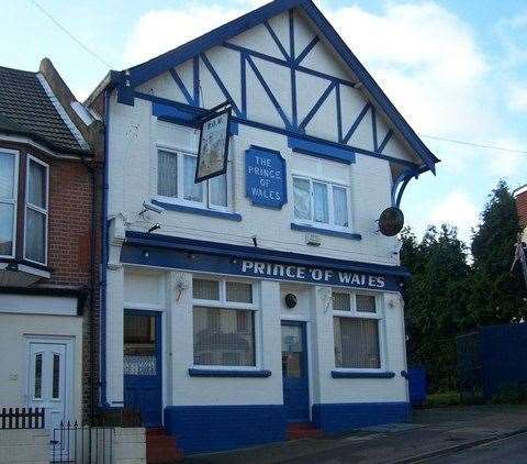
[[[305,267],[243,259],[240,273],[244,275],[280,277],[292,280],[319,281],[327,285],[349,287],[384,288],[384,277],[363,273],[334,272],[317,267]]]

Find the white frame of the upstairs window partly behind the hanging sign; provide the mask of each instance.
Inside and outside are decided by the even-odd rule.
[[[159,178],[159,152],[167,152],[171,153],[177,156],[177,164],[178,164],[178,179],[177,179],[177,189],[178,196],[177,197],[166,197],[164,195],[158,194],[158,178]],[[227,205],[226,206],[218,206],[213,205],[210,198],[210,188],[209,188],[209,180],[205,180],[202,184],[203,189],[203,200],[202,201],[192,201],[187,200],[184,198],[184,170],[183,170],[183,163],[184,156],[193,156],[198,157],[198,153],[195,151],[189,148],[180,148],[175,146],[167,146],[162,144],[156,145],[156,192],[155,198],[158,201],[171,205],[181,205],[188,206],[192,208],[200,208],[204,210],[212,210],[212,211],[221,211],[221,212],[232,212],[232,181],[231,181],[231,161],[227,163],[227,172],[225,173],[225,178],[227,181]]]

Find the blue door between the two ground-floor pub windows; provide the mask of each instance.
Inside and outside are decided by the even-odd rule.
[[[310,420],[305,322],[282,321],[283,404],[290,422]]]

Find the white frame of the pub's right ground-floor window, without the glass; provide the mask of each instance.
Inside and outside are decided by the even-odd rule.
[[[337,294],[348,294],[350,296],[350,310],[349,311],[339,311],[333,310],[334,318],[348,318],[348,319],[370,319],[377,320],[378,323],[378,335],[379,335],[379,367],[378,368],[362,368],[362,367],[337,367],[337,360],[334,360],[334,371],[343,373],[383,373],[388,371],[386,365],[386,343],[385,343],[385,318],[384,318],[384,307],[382,295],[373,291],[349,291],[344,288],[333,288],[333,292]],[[357,311],[356,295],[367,295],[375,298],[375,312],[366,312]],[[332,299],[333,301],[333,299]],[[332,318],[332,328],[333,328],[333,318]],[[333,350],[335,352],[335,333],[333,334]]]

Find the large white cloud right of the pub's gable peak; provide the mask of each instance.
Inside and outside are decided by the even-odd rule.
[[[359,7],[327,13],[417,131],[452,137],[494,122],[485,104],[493,98],[484,86],[487,59],[473,31],[445,8],[386,3],[381,14]]]

